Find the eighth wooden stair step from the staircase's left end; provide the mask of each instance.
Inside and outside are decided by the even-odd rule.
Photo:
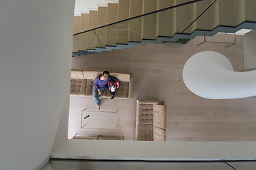
[[[144,0],[143,13],[150,13],[157,10],[156,0]],[[143,26],[142,33],[143,39],[156,40],[158,33],[158,13],[153,13],[142,18]]]

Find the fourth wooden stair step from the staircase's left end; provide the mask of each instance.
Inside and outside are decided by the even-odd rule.
[[[99,7],[97,13],[97,27],[107,25],[107,7]],[[95,30],[97,37],[96,47],[105,47],[106,45],[106,36],[107,36],[107,28],[100,28]]]

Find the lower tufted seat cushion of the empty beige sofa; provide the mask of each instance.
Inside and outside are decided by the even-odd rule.
[[[136,125],[135,140],[152,141],[153,125]]]

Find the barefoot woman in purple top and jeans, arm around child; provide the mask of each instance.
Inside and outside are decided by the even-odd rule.
[[[95,84],[92,88],[92,98],[97,104],[97,108],[100,110],[100,99],[99,96],[105,91],[107,88],[107,82],[110,79],[114,79],[117,81],[117,86],[119,86],[119,81],[116,77],[111,77],[110,72],[104,71],[102,75],[95,78]]]

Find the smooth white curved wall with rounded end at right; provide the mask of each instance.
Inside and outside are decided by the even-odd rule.
[[[230,61],[218,52],[198,52],[183,67],[183,81],[193,94],[226,99],[256,96],[256,70],[234,72]]]

